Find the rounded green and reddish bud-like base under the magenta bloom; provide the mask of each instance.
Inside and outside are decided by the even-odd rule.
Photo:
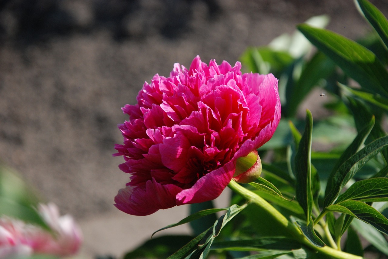
[[[247,156],[237,159],[236,172],[232,179],[240,184],[248,184],[259,178],[261,174],[262,161],[257,154],[257,150],[253,150]]]

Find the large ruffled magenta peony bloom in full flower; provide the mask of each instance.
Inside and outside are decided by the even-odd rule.
[[[144,83],[116,144],[130,173],[115,206],[132,215],[210,201],[232,179],[236,160],[267,142],[281,106],[272,75],[241,74],[241,63],[209,66],[194,58],[189,69],[175,63],[170,77]]]

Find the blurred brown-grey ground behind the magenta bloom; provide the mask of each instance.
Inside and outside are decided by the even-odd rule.
[[[388,14],[386,0],[371,2]],[[121,107],[175,62],[234,64],[320,14],[351,39],[369,30],[352,0],[2,0],[0,160],[76,218],[80,257],[120,256],[187,215],[185,206],[145,217],[113,206],[128,181],[111,156],[128,119]],[[313,115],[315,103],[305,104]]]

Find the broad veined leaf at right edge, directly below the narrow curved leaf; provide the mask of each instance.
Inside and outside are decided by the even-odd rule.
[[[347,200],[388,201],[388,178],[371,178],[355,182],[338,197],[335,203]]]

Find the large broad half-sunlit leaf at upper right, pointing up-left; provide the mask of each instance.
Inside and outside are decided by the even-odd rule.
[[[306,38],[331,58],[365,90],[388,96],[388,73],[376,55],[364,46],[325,29],[297,26]]]

